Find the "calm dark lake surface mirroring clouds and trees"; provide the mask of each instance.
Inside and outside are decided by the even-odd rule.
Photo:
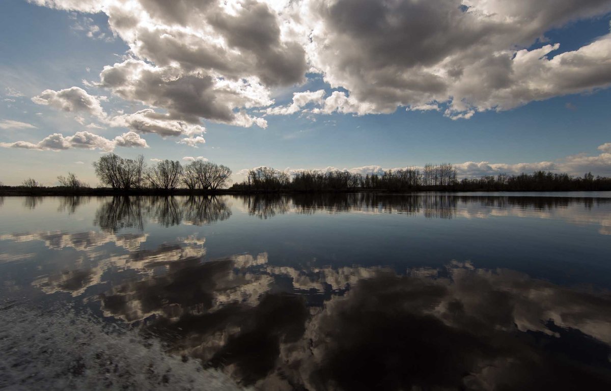
[[[610,290],[609,192],[4,197],[0,388],[609,390]]]

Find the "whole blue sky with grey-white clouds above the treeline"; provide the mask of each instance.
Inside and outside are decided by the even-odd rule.
[[[0,181],[233,170],[611,176],[609,0],[3,0]]]

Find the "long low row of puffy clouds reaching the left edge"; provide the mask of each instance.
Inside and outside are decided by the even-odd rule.
[[[60,151],[73,148],[99,149],[111,152],[116,147],[148,148],[147,142],[134,132],[123,133],[112,140],[106,139],[88,131],[76,132],[74,136],[64,137],[61,133],[53,133],[36,144],[27,141],[0,142],[4,148],[24,148],[39,151]]]

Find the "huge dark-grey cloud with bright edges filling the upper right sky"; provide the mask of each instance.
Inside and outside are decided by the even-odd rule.
[[[303,15],[312,31],[307,51],[313,66],[332,87],[369,103],[368,112],[437,101],[448,104],[448,115],[468,118],[475,111],[511,109],[611,83],[609,35],[552,59],[557,43],[524,49],[549,29],[604,15],[609,2],[309,4]]]

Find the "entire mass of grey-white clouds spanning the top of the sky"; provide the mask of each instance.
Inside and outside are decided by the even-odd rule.
[[[189,123],[262,126],[243,111],[293,114],[310,102],[318,114],[404,107],[469,119],[611,86],[611,35],[565,53],[541,45],[551,29],[609,13],[606,0],[31,2],[106,13],[131,59],[104,68],[98,85]],[[260,109],[307,71],[342,90]]]

